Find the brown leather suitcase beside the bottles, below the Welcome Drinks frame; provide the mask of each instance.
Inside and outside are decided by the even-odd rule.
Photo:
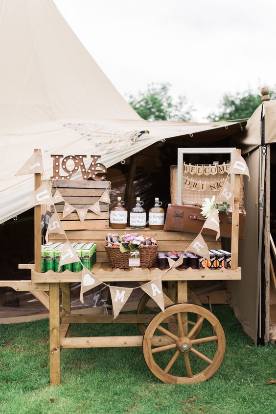
[[[232,213],[227,215],[225,212],[219,212],[220,218],[220,235],[221,237],[231,237]],[[239,212],[239,239],[245,236],[245,219],[246,211],[240,207]],[[193,205],[178,206],[169,204],[166,214],[164,230],[173,232],[199,233],[205,222],[205,217],[201,214],[201,207]],[[210,229],[203,229],[202,234],[216,235],[216,232]]]

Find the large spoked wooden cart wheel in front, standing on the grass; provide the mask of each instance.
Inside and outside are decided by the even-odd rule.
[[[191,314],[197,315],[192,327],[186,322]],[[170,316],[176,317],[178,335],[164,328],[163,321]],[[200,324],[203,326],[195,339],[194,332]],[[155,335],[159,335],[160,346],[152,345]],[[216,372],[225,345],[223,328],[213,313],[198,305],[177,304],[165,308],[149,323],[143,338],[143,354],[151,372],[164,383],[194,384]]]

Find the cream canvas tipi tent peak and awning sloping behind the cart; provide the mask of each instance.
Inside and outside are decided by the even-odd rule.
[[[121,97],[52,0],[0,0],[0,223],[22,213],[33,177],[14,177],[34,148],[102,155],[107,167],[174,136],[238,123],[142,120]],[[149,134],[138,137],[137,132]]]

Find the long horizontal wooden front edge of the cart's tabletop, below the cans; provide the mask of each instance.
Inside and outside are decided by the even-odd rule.
[[[96,263],[92,273],[103,282],[147,282],[163,274],[162,281],[189,281],[189,280],[240,280],[241,268],[237,269],[171,269],[169,272],[158,267],[115,269],[107,263]],[[33,283],[68,283],[81,282],[81,272],[65,270],[62,273],[48,270],[45,273],[31,271]]]

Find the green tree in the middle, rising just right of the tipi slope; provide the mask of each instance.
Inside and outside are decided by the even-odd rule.
[[[185,96],[175,102],[170,95],[169,83],[151,83],[144,92],[129,95],[128,102],[141,118],[148,121],[190,121],[192,106],[187,105]]]

